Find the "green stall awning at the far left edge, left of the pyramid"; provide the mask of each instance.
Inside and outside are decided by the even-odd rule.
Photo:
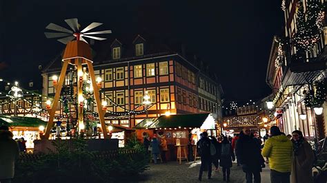
[[[0,125],[8,127],[46,127],[47,122],[39,118],[0,115]]]

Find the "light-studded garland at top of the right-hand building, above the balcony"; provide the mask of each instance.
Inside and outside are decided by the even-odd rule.
[[[321,23],[324,21],[324,6],[318,1],[308,1],[306,12],[303,3],[298,3],[297,32],[294,36],[295,45],[299,49],[311,50],[319,41]]]

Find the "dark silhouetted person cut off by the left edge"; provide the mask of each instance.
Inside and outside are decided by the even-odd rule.
[[[14,177],[14,162],[19,158],[19,147],[6,126],[0,127],[0,182],[10,183]]]

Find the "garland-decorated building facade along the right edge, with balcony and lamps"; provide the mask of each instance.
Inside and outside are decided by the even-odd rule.
[[[324,1],[315,1],[322,6]],[[317,83],[326,86],[326,24],[324,17],[315,40],[306,45],[301,38],[301,14],[313,13],[313,1],[284,1],[284,34],[275,36],[270,50],[266,82],[273,89],[273,103],[281,115],[275,119],[284,133],[299,129],[308,139],[326,136],[326,96],[318,107],[323,114],[316,114],[314,107],[306,105],[310,91],[315,95]],[[311,11],[311,12],[310,12]],[[323,12],[321,9],[317,14]],[[316,26],[316,25],[315,25]],[[315,27],[313,26],[313,27]],[[310,41],[309,41],[310,42]],[[326,88],[326,87],[325,87]],[[305,116],[305,118],[304,118]],[[325,119],[325,120],[324,120]]]

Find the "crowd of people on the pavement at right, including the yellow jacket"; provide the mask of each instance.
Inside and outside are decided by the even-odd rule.
[[[269,164],[272,183],[310,183],[313,182],[312,168],[315,155],[301,131],[295,130],[286,136],[276,126],[261,140],[259,133],[244,128],[234,138],[208,136],[201,133],[197,148],[201,155],[199,181],[205,169],[211,179],[212,164],[215,171],[222,167],[223,180],[230,181],[232,162],[245,173],[247,183],[261,182],[261,171]],[[265,159],[266,158],[266,159]]]

